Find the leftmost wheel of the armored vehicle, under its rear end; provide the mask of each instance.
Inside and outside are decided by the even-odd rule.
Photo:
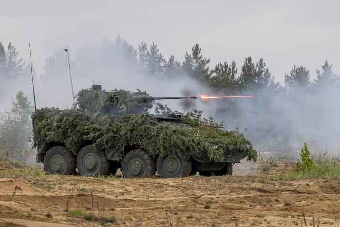
[[[75,174],[76,158],[63,146],[52,147],[44,158],[44,171],[47,174]]]

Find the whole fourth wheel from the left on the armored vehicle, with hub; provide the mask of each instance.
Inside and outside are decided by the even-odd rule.
[[[181,178],[190,176],[191,160],[184,155],[159,156],[157,159],[157,171],[161,178]]]

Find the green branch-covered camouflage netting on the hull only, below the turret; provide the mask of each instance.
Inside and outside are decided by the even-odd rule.
[[[33,115],[34,141],[41,144],[63,143],[75,154],[84,140],[93,141],[94,146],[107,151],[108,158],[122,158],[124,147],[134,145],[157,155],[177,154],[184,151],[188,155],[207,154],[209,160],[225,161],[226,146],[232,153],[256,160],[256,151],[246,151],[250,142],[238,131],[224,131],[190,114],[181,123],[154,122],[148,114],[89,115],[79,110],[44,108]],[[213,145],[220,146],[214,149]],[[206,162],[209,160],[205,160]],[[204,161],[203,161],[204,162]]]

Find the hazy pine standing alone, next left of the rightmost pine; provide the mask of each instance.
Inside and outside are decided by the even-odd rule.
[[[303,65],[294,65],[290,74],[284,75],[284,83],[288,91],[307,89],[310,85],[309,70]]]

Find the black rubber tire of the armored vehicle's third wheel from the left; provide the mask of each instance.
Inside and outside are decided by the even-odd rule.
[[[139,164],[142,165],[142,169],[136,174],[131,171],[131,165],[134,162],[139,162]],[[124,178],[139,178],[155,175],[155,160],[144,150],[132,150],[125,155],[121,170]]]

